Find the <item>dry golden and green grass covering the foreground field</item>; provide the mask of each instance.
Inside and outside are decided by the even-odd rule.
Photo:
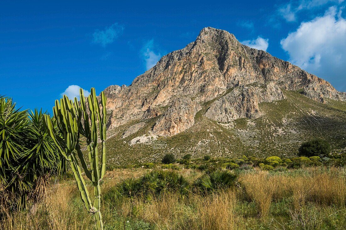
[[[167,192],[151,200],[113,194],[120,180],[149,169],[116,169],[102,184],[105,230],[115,229],[346,229],[346,171],[309,167],[238,170],[239,186],[203,195]],[[179,170],[188,180],[201,172]],[[93,229],[72,179],[55,184],[30,211],[3,214],[3,230]]]

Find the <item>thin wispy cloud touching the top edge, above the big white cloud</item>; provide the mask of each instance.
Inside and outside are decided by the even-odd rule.
[[[310,10],[313,8],[324,6],[328,3],[339,4],[344,0],[299,0],[290,1],[279,8],[279,15],[281,15],[286,21],[296,21],[297,13],[301,10]]]

